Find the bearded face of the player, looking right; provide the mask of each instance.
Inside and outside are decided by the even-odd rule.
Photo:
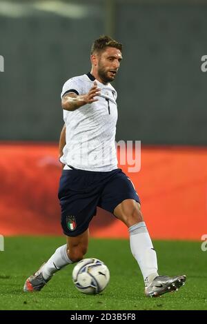
[[[121,59],[121,51],[117,48],[108,47],[99,55],[97,72],[104,83],[115,79]]]

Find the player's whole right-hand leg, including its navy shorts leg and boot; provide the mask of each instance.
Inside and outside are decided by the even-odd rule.
[[[128,227],[131,252],[144,276],[146,296],[159,296],[184,284],[186,276],[157,274],[157,255],[143,221],[139,196],[132,181],[120,169],[115,170],[104,186],[99,207],[115,214]]]

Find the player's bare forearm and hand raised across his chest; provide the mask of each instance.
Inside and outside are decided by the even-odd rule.
[[[98,101],[95,99],[96,96],[99,96],[101,89],[98,88],[96,81],[94,85],[88,93],[77,95],[74,92],[69,92],[63,96],[61,105],[64,110],[74,111],[80,108],[82,105],[86,105],[86,103],[93,103]]]

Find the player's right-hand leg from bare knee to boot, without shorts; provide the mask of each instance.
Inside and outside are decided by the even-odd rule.
[[[178,290],[184,285],[185,275],[174,277],[158,275],[156,252],[143,221],[139,203],[133,199],[126,199],[115,207],[114,214],[128,226],[131,252],[144,276],[146,296],[157,297]]]

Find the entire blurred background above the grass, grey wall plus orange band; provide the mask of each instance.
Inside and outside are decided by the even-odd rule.
[[[117,141],[141,141],[129,174],[153,239],[207,232],[207,3],[0,1],[0,233],[61,234],[57,188],[63,83],[90,70],[101,34],[124,44]],[[127,172],[127,165],[123,168]],[[94,237],[126,238],[99,210]]]

